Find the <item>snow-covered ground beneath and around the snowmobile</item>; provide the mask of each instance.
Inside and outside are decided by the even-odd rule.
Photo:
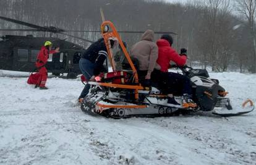
[[[256,75],[210,75],[237,108],[256,101]],[[0,77],[0,164],[256,164],[256,111],[105,119],[75,106],[79,80],[49,78],[43,91],[26,81]]]

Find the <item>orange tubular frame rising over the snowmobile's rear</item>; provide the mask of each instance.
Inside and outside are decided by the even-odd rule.
[[[112,30],[111,32],[109,31],[109,27]],[[134,67],[134,63],[130,59],[129,53],[127,52],[127,49],[124,46],[124,43],[122,43],[122,40],[121,40],[121,37],[119,36],[119,33],[117,32],[116,28],[114,27],[114,24],[110,21],[103,21],[103,23],[101,24],[101,35],[104,38],[106,48],[108,50],[108,59],[111,63],[111,67],[112,67],[113,71],[116,71],[116,64],[114,62],[113,51],[111,49],[111,44],[110,44],[109,38],[116,38],[118,40],[118,43],[121,46],[122,51],[124,52],[124,55],[126,56],[126,59],[129,62],[130,67],[132,68],[132,72],[134,74],[134,81],[135,81],[136,84],[139,84],[139,78],[138,78],[137,70]],[[135,90],[135,94],[134,94],[135,99],[139,99],[138,90],[143,90],[144,89],[144,87],[142,87],[140,84],[139,85],[120,85],[120,84],[114,84],[114,83],[98,83],[98,82],[88,82],[88,83],[92,84],[92,85],[101,85],[101,86],[105,86],[105,87],[125,88],[125,89]],[[136,107],[141,108],[141,106],[136,106]]]

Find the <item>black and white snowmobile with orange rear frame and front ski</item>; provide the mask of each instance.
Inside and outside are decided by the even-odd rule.
[[[109,27],[112,31],[109,30]],[[190,78],[193,100],[197,106],[184,106],[182,95],[174,95],[176,104],[168,104],[168,95],[163,92],[161,85],[151,85],[151,87],[141,85],[136,69],[137,62],[134,63],[130,58],[112,22],[104,21],[102,23],[101,35],[108,49],[108,59],[113,72],[100,74],[95,77],[95,80],[87,82],[91,85],[90,93],[83,98],[81,103],[82,111],[87,114],[120,119],[213,111],[213,114],[228,117],[246,114],[254,110],[254,103],[248,99],[242,104],[245,108],[244,111],[232,112],[230,99],[226,98],[228,92],[219,85],[219,81],[210,78],[205,69],[192,69],[188,66],[180,69],[184,75]],[[130,69],[116,70],[109,38],[116,38],[119,42]]]

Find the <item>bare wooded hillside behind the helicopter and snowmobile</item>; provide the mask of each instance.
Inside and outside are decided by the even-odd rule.
[[[236,0],[235,0],[236,1]],[[256,72],[256,0],[194,0],[187,4],[143,0],[7,0],[0,1],[0,15],[41,26],[67,30],[100,30],[100,8],[117,30],[175,32],[174,48],[187,48],[190,61],[211,66],[214,71],[239,69]],[[0,21],[0,28],[27,28]],[[0,35],[32,32],[0,32]],[[96,41],[100,33],[70,33]],[[33,32],[35,36],[49,33]],[[85,43],[67,38],[85,48]],[[141,34],[121,34],[129,48]],[[155,40],[160,35],[155,35]]]

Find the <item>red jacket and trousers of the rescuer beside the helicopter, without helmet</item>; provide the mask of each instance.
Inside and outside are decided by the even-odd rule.
[[[54,53],[56,53],[56,51],[54,50],[49,51],[45,46],[42,46],[40,52],[36,57],[35,66],[40,74],[40,77],[38,78],[36,85],[39,85],[39,87],[45,87],[46,80],[48,77],[47,69],[45,65],[49,58],[49,54],[54,54]]]

